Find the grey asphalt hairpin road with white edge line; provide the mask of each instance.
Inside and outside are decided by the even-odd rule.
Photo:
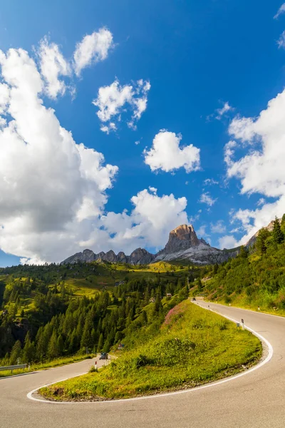
[[[207,307],[208,303],[199,302]],[[285,318],[209,303],[241,320],[274,348],[260,369],[213,387],[121,402],[53,404],[26,394],[43,384],[88,371],[90,360],[0,379],[1,428],[284,428]]]

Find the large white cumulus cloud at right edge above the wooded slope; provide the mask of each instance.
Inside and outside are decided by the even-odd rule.
[[[235,161],[232,154],[229,156],[228,177],[241,180],[242,194],[258,193],[276,199],[256,210],[239,210],[234,214],[246,231],[240,243],[246,243],[275,215],[281,217],[285,213],[285,90],[271,99],[257,118],[234,118],[229,133],[248,151]]]

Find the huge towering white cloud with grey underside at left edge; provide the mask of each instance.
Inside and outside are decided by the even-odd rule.
[[[10,117],[0,131],[0,248],[60,261],[90,234],[88,219],[103,213],[118,168],[76,144],[54,110],[43,106],[43,81],[26,51],[0,52],[0,63],[9,88],[2,105]]]

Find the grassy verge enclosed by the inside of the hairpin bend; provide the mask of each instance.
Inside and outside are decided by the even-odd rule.
[[[152,340],[98,372],[40,393],[48,399],[98,401],[185,389],[241,372],[261,352],[261,342],[250,332],[186,300],[170,310]]]

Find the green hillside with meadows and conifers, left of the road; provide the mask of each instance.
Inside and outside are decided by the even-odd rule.
[[[0,365],[38,365],[108,351],[129,328],[159,318],[167,294],[187,297],[187,277],[199,270],[86,263],[9,267],[0,275]]]

